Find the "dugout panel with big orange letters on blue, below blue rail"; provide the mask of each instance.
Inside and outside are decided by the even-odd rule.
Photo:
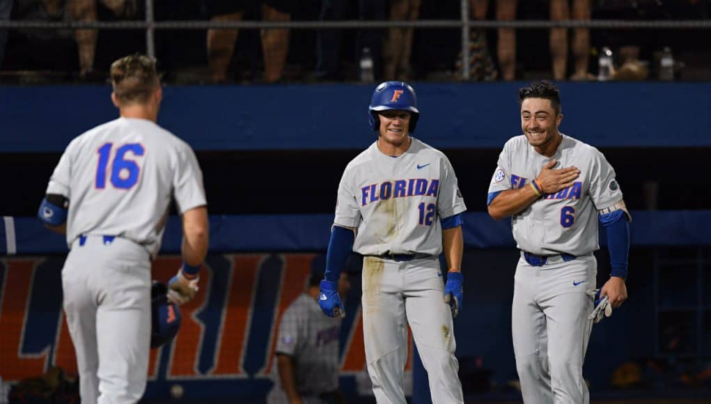
[[[153,278],[168,280],[179,257],[160,257]],[[4,258],[0,266],[0,376],[18,381],[49,366],[76,372],[75,351],[61,310],[63,257]],[[275,366],[274,343],[284,310],[303,292],[323,255],[210,255],[200,292],[181,307],[183,322],[172,344],[151,350],[149,393],[172,383],[213,382],[217,390],[186,388],[186,394],[264,395]],[[365,371],[360,281],[346,298],[341,331],[341,373]],[[121,332],[117,324],[117,333]],[[410,363],[408,361],[408,368]],[[166,384],[167,383],[167,384]],[[154,385],[154,386],[151,386]],[[157,393],[156,393],[157,394]]]

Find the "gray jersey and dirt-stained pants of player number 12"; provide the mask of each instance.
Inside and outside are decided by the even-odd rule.
[[[412,138],[404,154],[383,154],[375,142],[355,157],[338,186],[334,223],[357,228],[353,250],[363,259],[363,337],[378,403],[405,404],[407,319],[428,369],[432,402],[464,403],[456,342],[444,302],[440,218],[466,211],[442,151]],[[418,254],[412,260],[385,255]],[[444,336],[444,338],[443,338]]]

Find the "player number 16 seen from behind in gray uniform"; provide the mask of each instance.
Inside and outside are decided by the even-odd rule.
[[[77,355],[82,403],[136,403],[144,393],[151,337],[151,259],[175,198],[183,265],[169,299],[197,290],[208,248],[205,191],[193,150],[156,124],[162,92],[156,61],[111,65],[120,117],[73,139],[38,216],[66,233],[63,307]]]

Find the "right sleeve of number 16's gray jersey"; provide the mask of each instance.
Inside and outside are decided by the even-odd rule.
[[[173,174],[173,196],[178,213],[207,204],[203,187],[203,172],[195,152],[187,144],[178,149],[178,164]]]

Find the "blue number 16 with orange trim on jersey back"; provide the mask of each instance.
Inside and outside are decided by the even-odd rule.
[[[106,188],[106,168],[113,143],[105,143],[97,150],[99,164],[96,168],[96,188]],[[143,156],[144,148],[139,143],[127,143],[116,150],[116,155],[111,163],[111,184],[114,188],[129,189],[136,185],[141,174],[141,167],[134,160],[126,159],[126,153],[131,151],[134,156]],[[123,173],[127,173],[122,175]]]

